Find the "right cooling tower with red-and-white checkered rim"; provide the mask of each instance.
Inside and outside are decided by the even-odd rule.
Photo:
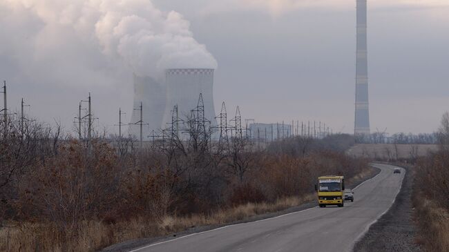
[[[169,128],[172,122],[173,106],[178,105],[178,117],[187,120],[191,110],[198,106],[202,94],[204,117],[216,125],[213,107],[213,69],[169,69],[166,70],[166,108],[163,126]]]

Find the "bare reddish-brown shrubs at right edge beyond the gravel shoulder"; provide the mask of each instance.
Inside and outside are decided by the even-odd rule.
[[[440,148],[418,160],[413,204],[425,251],[449,251],[449,113],[441,119]]]

